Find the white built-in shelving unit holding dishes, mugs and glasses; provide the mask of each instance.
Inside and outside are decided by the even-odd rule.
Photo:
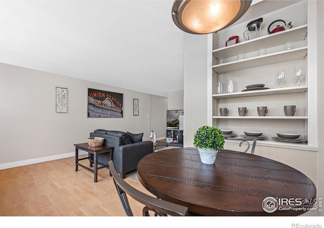
[[[271,4],[271,3],[269,3]],[[274,4],[274,3],[272,3]],[[294,5],[298,4],[298,5]],[[316,80],[315,75],[308,75],[308,68],[311,63],[307,61],[309,55],[308,43],[308,24],[307,24],[307,2],[292,3],[291,6],[287,6],[285,9],[279,9],[279,12],[270,12],[265,15],[265,18],[272,18],[274,15],[288,15],[289,20],[299,21],[300,24],[295,24],[291,29],[287,29],[281,32],[273,34],[264,34],[256,39],[240,42],[228,47],[220,47],[224,45],[224,39],[234,35],[233,32],[237,32],[239,28],[244,28],[246,24],[251,20],[242,22],[242,25],[235,25],[235,29],[226,28],[224,31],[220,31],[214,34],[214,40],[216,39],[216,47],[213,50],[213,125],[218,126],[221,129],[233,130],[233,133],[242,135],[243,130],[261,131],[268,137],[266,140],[258,140],[258,144],[266,146],[281,146],[287,148],[299,148],[315,150],[316,145],[308,143],[288,143],[279,142],[271,139],[276,136],[275,132],[287,132],[300,133],[303,138],[308,139],[309,136],[317,137],[317,133],[309,131],[309,125],[313,125],[316,120],[309,120],[309,105],[311,103],[311,111],[314,110],[316,105],[312,103],[311,96],[309,95],[309,82]],[[292,11],[298,9],[304,11],[304,24],[302,19],[297,19],[296,14],[292,14]],[[301,12],[299,12],[300,14]],[[277,19],[277,18],[276,18]],[[267,21],[270,24],[271,21]],[[297,23],[297,22],[296,22]],[[263,29],[267,29],[263,28]],[[242,30],[239,33],[243,33]],[[218,42],[217,39],[222,42]],[[218,42],[218,43],[217,43]],[[295,42],[295,48],[290,50],[284,50],[286,43]],[[265,55],[258,56],[259,49],[267,49],[268,52]],[[246,58],[242,60],[236,60],[236,56],[241,53],[246,53]],[[218,58],[226,58],[226,63],[217,64]],[[293,82],[291,74],[294,66],[303,65],[306,69],[305,77],[303,78],[303,84],[296,86]],[[285,86],[277,88],[274,83],[273,73],[279,69],[288,69],[288,77]],[[226,82],[227,79],[234,79],[238,81],[239,90],[244,90],[245,86],[252,84],[266,84],[265,87],[269,89],[263,90],[250,90],[233,93],[221,93],[217,94],[217,82]],[[271,86],[268,86],[271,85]],[[294,86],[295,85],[295,86]],[[299,113],[296,112],[295,116],[285,116],[281,108],[284,105],[298,104]],[[271,105],[272,113],[268,113],[266,116],[257,116],[257,106]],[[237,107],[245,107],[250,105],[251,113],[245,117],[238,116]],[[230,116],[220,116],[220,107],[230,107],[232,113]],[[277,109],[277,110],[274,110]],[[234,112],[234,110],[236,110]],[[280,111],[278,111],[280,110]],[[278,112],[279,115],[278,115]],[[282,115],[281,115],[282,113]],[[230,141],[230,139],[227,139]]]

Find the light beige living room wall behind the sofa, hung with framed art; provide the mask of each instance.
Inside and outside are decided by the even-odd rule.
[[[68,88],[68,113],[55,113],[55,87]],[[88,88],[123,93],[124,118],[87,118]],[[144,132],[149,140],[151,113],[154,123],[166,121],[155,104],[166,109],[167,98],[153,96],[153,102],[151,108],[150,94],[0,63],[0,169],[73,156],[73,144],[87,142],[96,129]]]

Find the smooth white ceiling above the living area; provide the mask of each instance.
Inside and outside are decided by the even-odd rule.
[[[183,90],[173,1],[0,1],[0,62],[159,96]]]

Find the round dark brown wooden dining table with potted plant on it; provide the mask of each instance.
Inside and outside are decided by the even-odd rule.
[[[157,198],[199,215],[296,216],[316,205],[316,187],[305,174],[232,150],[221,150],[212,165],[200,162],[195,147],[161,150],[140,160],[137,176]]]

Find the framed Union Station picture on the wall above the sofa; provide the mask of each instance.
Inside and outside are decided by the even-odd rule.
[[[123,118],[123,94],[88,88],[89,118]]]

